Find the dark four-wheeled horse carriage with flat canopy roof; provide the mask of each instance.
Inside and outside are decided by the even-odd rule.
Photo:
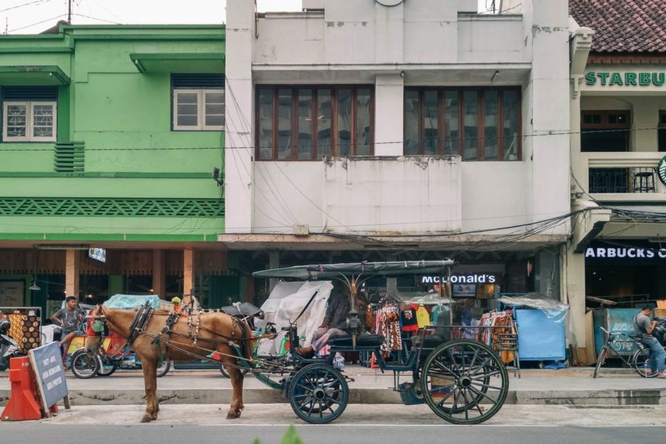
[[[353,379],[333,366],[336,352],[374,353],[382,373],[393,372],[393,390],[402,392],[405,404],[422,400],[437,416],[453,424],[484,422],[502,408],[509,392],[506,368],[492,348],[466,339],[445,341],[438,330],[441,327],[424,327],[413,337],[413,346],[404,364],[389,364],[380,350],[384,336],[361,333],[356,309],[357,289],[370,278],[443,276],[450,273],[453,264],[451,260],[362,262],[314,264],[255,272],[255,278],[344,282],[350,290],[352,307],[346,329],[349,336],[330,341],[330,353],[326,357],[307,359],[295,352],[299,336],[294,320],[283,329],[289,335],[291,353],[287,357],[257,357],[250,363],[239,355],[238,362],[249,368],[257,379],[282,391],[296,416],[313,424],[324,424],[339,418],[349,402],[348,381]],[[442,285],[441,297],[444,291],[445,285]],[[448,294],[451,294],[450,289]],[[284,377],[274,381],[271,376],[275,373]],[[403,373],[409,374],[411,381],[401,384],[400,375]]]

